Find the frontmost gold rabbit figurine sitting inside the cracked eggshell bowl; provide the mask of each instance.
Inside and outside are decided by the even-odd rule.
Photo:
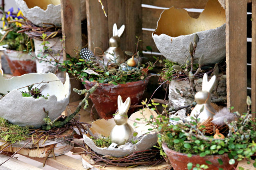
[[[127,123],[127,112],[131,105],[131,98],[128,97],[123,103],[122,97],[118,96],[118,113],[114,117],[116,125],[110,133],[110,140],[118,145],[123,145],[132,137],[134,129]]]

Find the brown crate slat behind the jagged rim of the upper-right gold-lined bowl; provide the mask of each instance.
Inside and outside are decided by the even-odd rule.
[[[163,9],[142,8],[142,27],[156,29],[156,23],[160,18]],[[193,18],[198,18],[200,13],[188,12]]]

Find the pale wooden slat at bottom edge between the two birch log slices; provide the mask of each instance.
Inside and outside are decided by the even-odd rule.
[[[39,162],[44,162],[44,158],[29,158]],[[69,157],[67,155],[58,156],[56,159],[53,159],[52,157],[48,158],[45,164],[59,170],[84,170],[81,160]]]

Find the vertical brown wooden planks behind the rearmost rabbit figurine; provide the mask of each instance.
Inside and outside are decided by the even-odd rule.
[[[136,36],[142,35],[141,0],[104,0],[102,3],[107,18],[97,0],[86,0],[89,49],[94,51],[95,47],[100,47],[106,51],[109,47],[109,38],[113,35],[113,24],[116,23],[118,29],[125,24],[120,43],[121,49],[135,53]]]

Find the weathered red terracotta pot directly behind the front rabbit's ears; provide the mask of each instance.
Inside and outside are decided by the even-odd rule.
[[[111,119],[113,117],[113,114],[118,108],[118,95],[121,95],[124,101],[127,99],[127,97],[131,97],[131,105],[138,104],[147,87],[148,81],[149,79],[147,78],[137,82],[129,82],[118,85],[99,83],[99,87],[90,96],[99,116],[104,119]],[[95,82],[89,82],[88,80],[85,82],[86,84],[84,84],[84,86],[86,89],[90,89],[96,84]],[[130,114],[132,111],[133,110],[129,111]]]

